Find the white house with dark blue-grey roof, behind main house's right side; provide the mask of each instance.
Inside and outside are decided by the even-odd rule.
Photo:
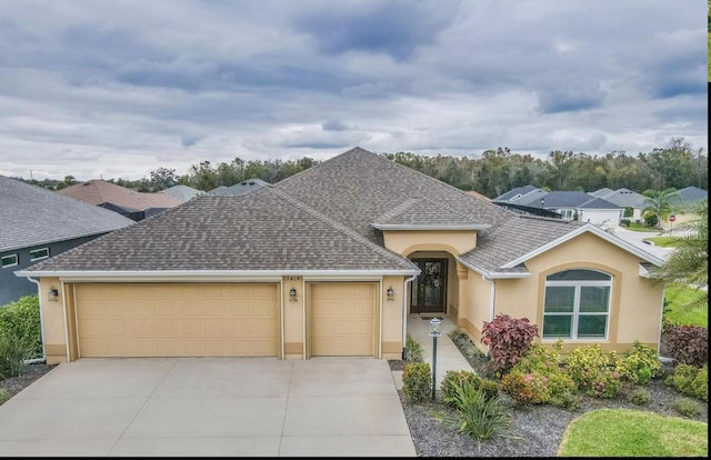
[[[619,226],[624,213],[623,208],[585,192],[547,192],[532,186],[501,194],[493,202],[514,212],[579,220],[600,227]]]

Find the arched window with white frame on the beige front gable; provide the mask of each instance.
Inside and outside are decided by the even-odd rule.
[[[612,277],[565,270],[545,278],[543,339],[607,339]]]

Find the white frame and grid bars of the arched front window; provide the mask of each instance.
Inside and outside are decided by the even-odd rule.
[[[543,296],[543,323],[545,323],[545,317],[570,317],[572,316],[572,324],[570,326],[570,337],[565,337],[565,338],[561,338],[563,340],[608,340],[608,337],[610,337],[610,312],[612,310],[612,276],[610,273],[605,273],[604,271],[600,271],[600,270],[591,270],[591,269],[571,269],[571,270],[585,270],[585,271],[595,271],[598,273],[602,273],[605,274],[608,277],[610,277],[609,280],[569,280],[569,281],[549,281],[548,277],[551,277],[553,274],[558,274],[561,273],[563,271],[569,271],[569,270],[561,270],[558,271],[555,273],[550,273],[548,277],[545,277],[545,292]],[[573,311],[572,312],[551,312],[551,313],[547,313],[545,312],[545,297],[548,296],[548,288],[549,287],[563,287],[563,288],[574,288],[574,293],[573,293]],[[583,337],[583,338],[579,338],[578,337],[578,322],[580,317],[585,317],[585,316],[602,316],[603,313],[600,311],[594,311],[594,312],[581,312],[580,311],[580,292],[582,290],[582,288],[587,288],[587,287],[595,287],[595,288],[610,288],[608,290],[608,311],[607,313],[604,313],[607,316],[607,321],[604,323],[604,336],[603,337]],[[541,336],[543,336],[543,326],[541,326]],[[542,337],[543,340],[555,340],[558,339],[557,337]]]

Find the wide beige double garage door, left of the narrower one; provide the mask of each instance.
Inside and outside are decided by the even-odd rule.
[[[276,357],[278,284],[77,284],[80,357]]]

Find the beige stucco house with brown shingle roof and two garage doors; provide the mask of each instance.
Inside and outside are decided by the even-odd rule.
[[[663,263],[597,226],[522,216],[360,148],[202,196],[23,270],[49,363],[82,357],[400,359],[409,321],[529,318],[563,352],[658,347]],[[48,294],[59,288],[59,298]]]

